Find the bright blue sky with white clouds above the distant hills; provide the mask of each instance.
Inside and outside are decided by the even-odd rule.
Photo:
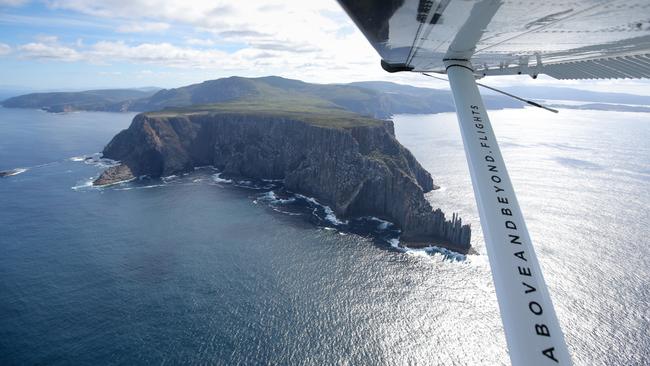
[[[0,0],[3,89],[170,88],[233,75],[447,87],[379,62],[335,0]],[[650,95],[647,81],[483,82]]]

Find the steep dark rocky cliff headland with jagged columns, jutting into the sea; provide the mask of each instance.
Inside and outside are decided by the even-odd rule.
[[[282,179],[287,189],[317,198],[340,217],[376,216],[396,223],[402,241],[469,249],[470,227],[456,215],[448,221],[432,209],[424,197],[436,188],[431,175],[395,139],[392,122],[319,118],[223,111],[140,114],[103,153],[134,176],[212,165],[225,175]],[[123,178],[120,169],[109,168],[95,183]]]

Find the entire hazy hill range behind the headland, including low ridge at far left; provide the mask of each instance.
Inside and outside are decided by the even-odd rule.
[[[447,90],[415,88],[386,82],[311,84],[277,76],[229,77],[157,92],[141,90],[93,90],[74,93],[34,93],[3,102],[8,108],[40,108],[50,112],[160,111],[235,100],[318,100],[377,118],[397,113],[438,113],[454,110]],[[489,108],[518,108],[518,101],[488,96]]]

